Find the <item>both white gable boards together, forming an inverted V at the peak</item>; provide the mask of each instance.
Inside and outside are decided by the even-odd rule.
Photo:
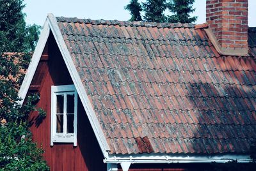
[[[104,155],[104,158],[108,158],[108,151],[110,151],[108,142],[107,142],[106,138],[104,137],[104,133],[103,133],[102,129],[100,128],[100,124],[99,124],[99,121],[98,121],[96,114],[93,110],[92,104],[90,103],[88,95],[84,89],[81,78],[79,77],[79,75],[77,73],[76,67],[72,61],[72,57],[70,56],[70,54],[68,52],[67,45],[65,44],[65,41],[63,40],[63,36],[61,35],[60,28],[58,27],[56,17],[54,17],[54,15],[52,15],[51,13],[49,13],[47,16],[47,19],[44,24],[44,29],[41,33],[38,44],[36,45],[36,49],[33,54],[31,63],[29,64],[29,68],[28,68],[28,71],[24,78],[24,81],[22,82],[22,85],[20,87],[19,97],[22,98],[22,100],[19,103],[20,103],[20,105],[22,105],[22,103],[24,102],[24,99],[26,98],[26,94],[28,93],[29,85],[31,84],[33,76],[35,75],[35,71],[36,71],[38,63],[40,61],[40,57],[42,56],[42,52],[44,50],[45,44],[49,38],[50,29],[51,29],[54,39],[58,45],[58,48],[60,49],[61,55],[62,55],[63,60],[67,66],[67,69],[70,73],[72,81],[74,82],[74,85],[77,90],[77,94],[79,94],[79,97],[81,98],[84,110],[85,110],[86,115],[88,116],[88,119],[92,125],[93,131],[95,133],[95,137],[97,138],[97,141],[99,142],[100,149]]]

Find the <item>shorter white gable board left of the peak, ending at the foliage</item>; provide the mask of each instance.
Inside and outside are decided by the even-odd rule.
[[[26,75],[25,75],[24,80],[20,86],[20,90],[19,90],[19,94],[18,94],[18,96],[20,98],[22,98],[21,101],[18,101],[18,103],[20,105],[23,104],[23,102],[26,98],[26,94],[28,93],[29,86],[32,82],[34,75],[35,75],[36,68],[38,66],[38,63],[39,63],[42,53],[44,51],[44,47],[48,40],[49,34],[50,34],[50,27],[49,27],[49,22],[46,19],[45,23],[44,23],[43,30],[40,34],[40,38],[36,45],[35,52],[33,54],[33,57],[31,58],[28,70],[26,71]]]

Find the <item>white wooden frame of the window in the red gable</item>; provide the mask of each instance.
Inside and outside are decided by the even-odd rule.
[[[67,95],[63,100],[63,133],[56,133],[57,95],[74,94],[74,133],[67,133]],[[77,146],[77,91],[75,85],[51,86],[51,145],[54,142],[74,143]]]

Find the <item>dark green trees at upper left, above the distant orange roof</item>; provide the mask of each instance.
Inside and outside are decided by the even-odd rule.
[[[0,0],[0,45],[4,52],[35,49],[40,26],[26,26],[23,0]]]

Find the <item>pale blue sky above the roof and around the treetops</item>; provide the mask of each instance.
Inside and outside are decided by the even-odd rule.
[[[129,20],[129,11],[124,6],[130,0],[24,0],[27,24],[44,25],[47,13],[56,17],[77,17],[79,19]],[[142,0],[145,2],[145,0]],[[192,15],[198,16],[196,24],[205,22],[205,0],[196,0]],[[248,25],[256,27],[256,1],[249,0]]]

